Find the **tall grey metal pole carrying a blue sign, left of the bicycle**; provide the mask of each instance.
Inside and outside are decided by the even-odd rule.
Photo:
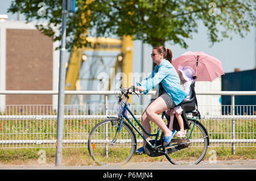
[[[57,112],[57,140],[56,140],[56,160],[55,166],[61,165],[63,151],[63,127],[64,127],[64,102],[65,102],[65,40],[66,40],[66,20],[67,11],[65,11],[66,1],[63,0],[62,11],[62,30],[61,30],[61,49],[60,49],[60,68],[59,68],[59,96]]]

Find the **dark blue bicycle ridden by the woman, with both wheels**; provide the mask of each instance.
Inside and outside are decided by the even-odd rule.
[[[89,154],[98,165],[124,165],[131,159],[137,149],[137,138],[131,127],[146,141],[145,152],[150,157],[165,155],[174,165],[197,164],[204,158],[209,145],[209,136],[203,124],[198,120],[200,115],[198,110],[193,112],[193,117],[187,117],[190,129],[186,137],[174,137],[168,146],[163,146],[164,134],[163,132],[160,134],[160,128],[154,134],[147,133],[129,109],[128,94],[135,92],[135,87],[132,86],[129,89],[120,87],[119,91],[122,96],[118,96],[118,117],[108,117],[101,121],[89,134]],[[142,132],[128,118],[128,112],[142,131],[155,139],[146,140]],[[162,113],[162,119],[164,116],[168,117],[165,111]],[[167,127],[169,124],[170,120],[167,119]]]

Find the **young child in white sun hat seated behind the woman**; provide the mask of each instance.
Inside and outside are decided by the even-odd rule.
[[[179,66],[178,70],[179,70],[178,73],[179,73],[179,77],[180,77],[180,84],[183,87],[183,90],[185,92],[187,92],[187,96],[184,100],[189,100],[189,99],[191,99],[191,95],[192,95],[192,90],[191,90],[190,86],[191,86],[191,83],[193,82],[194,70],[190,66],[185,66],[184,68]],[[169,129],[171,131],[174,130],[172,128],[172,124],[174,121],[174,114],[177,117],[177,121],[180,126],[180,131],[176,133],[177,137],[185,137],[185,135],[187,133],[187,131],[184,130],[183,119],[181,117],[182,112],[183,112],[183,109],[181,108],[181,106],[176,106],[166,112],[167,115],[170,115]]]

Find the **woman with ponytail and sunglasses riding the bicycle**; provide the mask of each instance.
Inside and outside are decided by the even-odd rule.
[[[157,64],[150,77],[138,83],[136,87],[143,94],[159,85],[159,95],[152,101],[142,114],[142,126],[146,132],[151,133],[150,120],[153,121],[164,133],[164,145],[170,144],[175,132],[170,131],[160,117],[159,113],[170,110],[180,104],[187,96],[180,85],[180,78],[172,66],[172,51],[163,46],[154,47],[152,50],[152,61]],[[149,140],[150,136],[143,132],[143,136]],[[143,153],[146,141],[143,140],[143,147],[136,153]]]

